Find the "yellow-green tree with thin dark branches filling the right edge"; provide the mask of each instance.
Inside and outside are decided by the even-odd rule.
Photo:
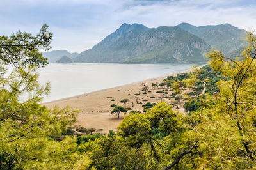
[[[195,138],[206,149],[198,161],[210,169],[216,165],[221,169],[256,167],[256,37],[248,33],[247,40],[241,60],[227,58],[215,50],[207,54],[211,67],[223,75],[217,82],[220,92],[208,97],[211,105],[193,112],[189,121]],[[200,72],[197,73],[200,79]],[[204,160],[205,157],[209,159]]]

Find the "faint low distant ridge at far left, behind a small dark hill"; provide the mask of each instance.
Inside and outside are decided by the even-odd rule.
[[[78,56],[78,53],[70,53],[67,50],[52,50],[49,52],[43,52],[43,57],[47,58],[49,63],[56,63],[56,61],[60,59],[62,56],[76,58],[76,56]]]

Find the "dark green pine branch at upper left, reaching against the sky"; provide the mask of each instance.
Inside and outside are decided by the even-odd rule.
[[[49,50],[52,33],[44,24],[38,35],[18,31],[16,34],[0,36],[0,61],[13,65],[47,65],[47,58],[42,57],[40,50]]]

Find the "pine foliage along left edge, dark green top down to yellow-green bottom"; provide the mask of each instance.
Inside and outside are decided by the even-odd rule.
[[[88,157],[76,153],[76,143],[70,137],[60,142],[53,139],[76,121],[77,111],[47,109],[41,104],[42,96],[49,93],[49,83],[40,86],[35,72],[47,64],[40,52],[50,48],[52,34],[46,29],[44,25],[36,36],[20,31],[10,38],[0,36],[0,157],[5,155],[1,166],[76,169],[90,163]],[[6,72],[4,65],[15,68]]]

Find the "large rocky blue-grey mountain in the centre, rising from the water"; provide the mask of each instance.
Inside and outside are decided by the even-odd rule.
[[[122,24],[92,49],[81,52],[74,62],[184,63],[204,61],[209,50],[204,40],[179,26],[148,28]]]

